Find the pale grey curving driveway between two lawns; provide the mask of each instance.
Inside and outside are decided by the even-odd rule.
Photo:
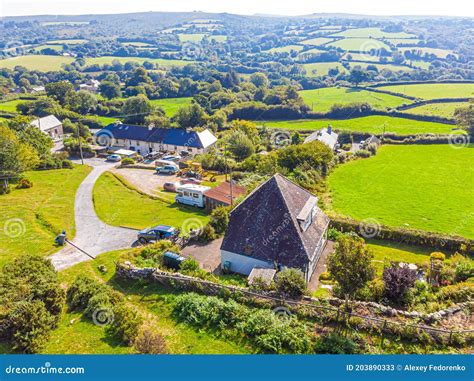
[[[108,251],[131,247],[136,239],[136,231],[105,224],[99,219],[94,209],[92,195],[94,184],[102,173],[116,164],[107,163],[103,159],[87,159],[86,164],[92,166],[93,170],[76,192],[74,203],[76,236],[71,242],[90,256],[66,244],[62,250],[50,257],[58,271],[91,260],[91,257],[95,258]]]

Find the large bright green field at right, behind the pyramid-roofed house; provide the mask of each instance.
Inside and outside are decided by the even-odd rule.
[[[357,220],[474,238],[473,150],[383,146],[329,176],[332,207]]]

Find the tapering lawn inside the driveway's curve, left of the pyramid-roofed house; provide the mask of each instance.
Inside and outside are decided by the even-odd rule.
[[[94,204],[100,219],[110,225],[143,229],[163,224],[187,233],[187,225],[204,225],[209,217],[202,210],[167,204],[125,187],[110,173],[104,173],[94,187]]]

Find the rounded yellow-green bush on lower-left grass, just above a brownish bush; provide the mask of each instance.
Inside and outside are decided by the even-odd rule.
[[[120,303],[113,308],[113,321],[107,326],[107,332],[130,345],[136,339],[141,324],[140,316],[125,303]]]

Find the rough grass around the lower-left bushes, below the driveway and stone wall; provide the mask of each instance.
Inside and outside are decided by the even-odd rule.
[[[108,283],[127,298],[145,320],[167,342],[170,353],[176,354],[238,354],[247,353],[250,349],[244,345],[230,342],[209,332],[199,332],[188,325],[178,323],[172,317],[172,308],[176,293],[159,286],[148,286],[141,282],[124,282],[117,280],[115,265],[119,256],[127,250],[101,254],[96,260],[80,263],[59,273],[61,283],[67,287],[80,274],[87,274],[99,281]],[[107,268],[105,274],[98,266]],[[114,340],[105,332],[105,327],[98,327],[79,313],[65,313],[58,329],[54,330],[42,353],[50,354],[127,354],[133,348],[126,347]]]

